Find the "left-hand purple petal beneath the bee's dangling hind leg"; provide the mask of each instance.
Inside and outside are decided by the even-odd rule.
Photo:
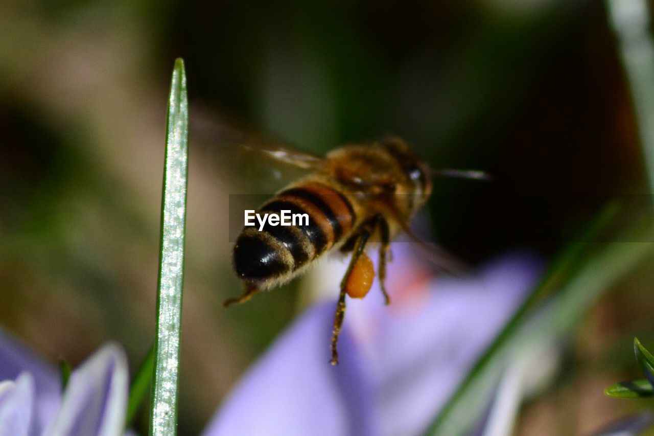
[[[330,365],[334,304],[309,310],[233,391],[204,435],[373,435],[371,388],[347,333]]]

